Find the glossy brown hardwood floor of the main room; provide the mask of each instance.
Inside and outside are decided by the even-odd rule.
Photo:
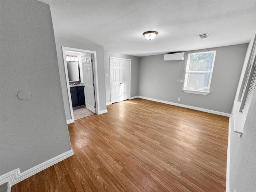
[[[143,99],[69,124],[74,155],[12,192],[224,192],[228,117]]]

